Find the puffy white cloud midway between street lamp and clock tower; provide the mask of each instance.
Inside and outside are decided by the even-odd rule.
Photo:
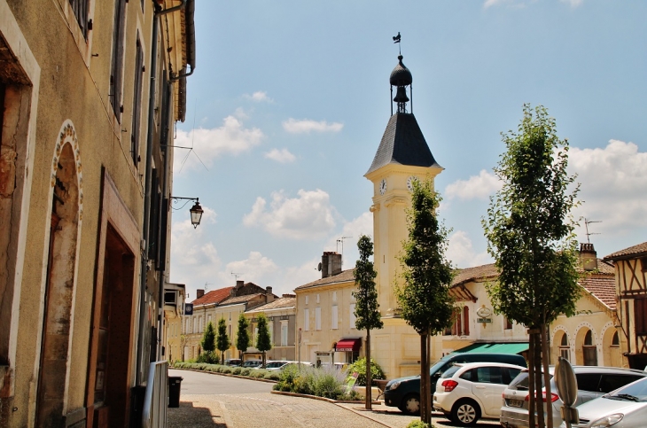
[[[264,198],[256,198],[252,212],[243,217],[247,227],[261,226],[275,237],[316,239],[335,227],[330,196],[325,191],[299,191],[297,198],[288,198],[283,191],[272,193],[267,208]]]

